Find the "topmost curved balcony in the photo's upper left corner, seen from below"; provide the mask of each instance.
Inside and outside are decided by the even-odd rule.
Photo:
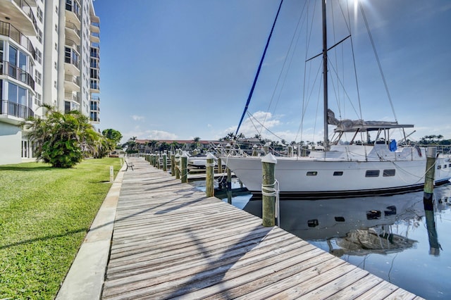
[[[0,1],[0,20],[8,20],[24,35],[37,35],[35,15],[25,0]]]

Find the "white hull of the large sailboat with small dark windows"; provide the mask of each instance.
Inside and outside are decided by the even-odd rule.
[[[254,194],[261,193],[261,157],[222,158]],[[450,158],[438,158],[435,182],[448,182]],[[446,166],[446,167],[445,167]],[[376,173],[378,175],[376,176]],[[393,194],[424,186],[426,158],[412,161],[343,161],[278,157],[275,177],[282,196],[362,196]]]

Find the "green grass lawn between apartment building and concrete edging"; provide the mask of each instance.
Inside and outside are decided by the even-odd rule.
[[[53,299],[111,187],[119,158],[70,169],[0,165],[0,299]]]

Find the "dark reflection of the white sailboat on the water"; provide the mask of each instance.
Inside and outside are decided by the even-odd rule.
[[[450,194],[450,185],[435,189],[436,210],[449,207]],[[243,209],[261,217],[261,200],[251,200]],[[391,254],[416,247],[417,241],[409,237],[409,230],[419,227],[425,216],[429,253],[439,255],[433,204],[424,203],[423,192],[280,201],[280,227],[313,244],[325,242],[328,249],[321,248],[338,257]]]

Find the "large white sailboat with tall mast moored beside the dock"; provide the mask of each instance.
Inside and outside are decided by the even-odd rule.
[[[328,44],[326,39],[326,1],[323,8],[323,116],[324,151],[311,151],[308,156],[277,156],[276,180],[280,196],[317,199],[375,194],[395,194],[424,186],[426,149],[396,145],[393,130],[414,125],[395,122],[337,120],[328,109]],[[249,102],[249,99],[248,99]],[[243,113],[244,115],[244,113]],[[334,137],[328,137],[328,125],[335,125]],[[362,134],[376,133],[374,142],[357,142]],[[352,140],[340,143],[343,135],[352,133]],[[362,139],[369,141],[368,139]],[[299,155],[299,154],[298,154]],[[221,157],[253,194],[261,194],[261,157],[239,155]],[[451,156],[439,154],[435,165],[435,184],[450,182]]]

